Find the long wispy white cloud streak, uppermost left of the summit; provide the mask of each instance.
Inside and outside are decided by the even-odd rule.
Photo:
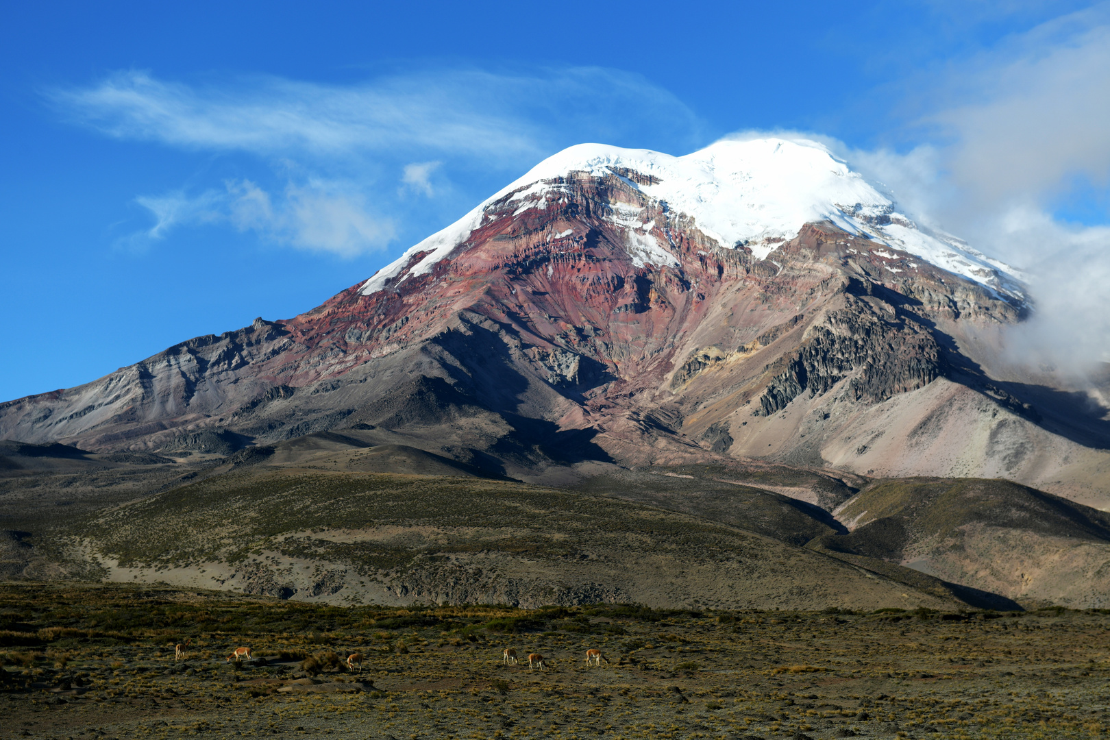
[[[646,129],[642,116],[664,135],[699,126],[674,94],[599,68],[433,70],[351,85],[274,77],[189,85],[127,71],[48,94],[72,120],[120,139],[279,156],[402,149],[531,161],[557,145],[568,124],[608,135]],[[618,114],[628,110],[636,120]]]

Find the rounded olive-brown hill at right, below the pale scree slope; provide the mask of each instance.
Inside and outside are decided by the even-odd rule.
[[[1110,605],[1110,515],[1051,494],[1008,480],[910,478],[869,488],[836,514],[850,534],[809,547],[1023,604]]]

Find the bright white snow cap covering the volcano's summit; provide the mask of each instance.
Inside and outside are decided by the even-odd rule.
[[[518,215],[565,202],[561,195],[571,173],[617,175],[660,204],[664,212],[693,219],[718,246],[744,246],[759,260],[796,237],[805,224],[830,222],[876,246],[907,252],[1007,295],[1022,294],[1021,275],[1013,267],[956,237],[919,229],[824,145],[776,138],[718,141],[685,156],[605,144],[571,146],[407,250],[366,281],[362,294],[426,274],[476,229],[503,217],[503,213],[491,214],[494,204],[506,200],[517,203],[513,215]],[[659,230],[662,241],[652,239],[649,233],[657,224],[642,215],[642,209],[618,209],[608,217],[632,230],[629,252],[638,263],[677,264],[668,249],[667,230]],[[414,263],[413,257],[421,253],[423,257]]]

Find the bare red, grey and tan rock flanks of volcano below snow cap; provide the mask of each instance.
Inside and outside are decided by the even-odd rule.
[[[305,314],[2,404],[0,437],[226,452],[372,425],[521,477],[767,458],[1107,494],[1104,423],[999,359],[1007,291],[833,221],[722,245],[655,180],[522,184]]]

